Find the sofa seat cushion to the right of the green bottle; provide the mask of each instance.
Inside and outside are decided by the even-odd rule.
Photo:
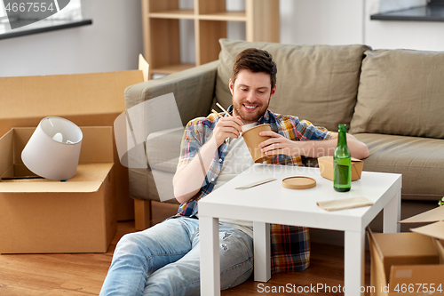
[[[402,174],[402,198],[438,201],[444,196],[444,140],[376,133],[353,134],[370,156],[364,171]]]

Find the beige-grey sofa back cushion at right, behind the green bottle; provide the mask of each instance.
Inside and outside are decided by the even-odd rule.
[[[444,138],[444,52],[365,52],[350,132]]]

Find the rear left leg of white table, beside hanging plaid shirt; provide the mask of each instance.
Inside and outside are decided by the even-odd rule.
[[[271,276],[270,224],[253,222],[254,280],[268,282]]]

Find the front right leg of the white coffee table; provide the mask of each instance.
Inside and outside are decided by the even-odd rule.
[[[344,245],[344,286],[345,296],[360,295],[364,286],[365,230],[345,231]],[[363,295],[363,293],[361,293]]]

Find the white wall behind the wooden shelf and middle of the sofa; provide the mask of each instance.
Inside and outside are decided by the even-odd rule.
[[[282,44],[362,44],[365,0],[280,0]],[[192,0],[180,0],[193,8]],[[245,9],[244,0],[226,0],[228,11]],[[182,21],[181,60],[195,62],[194,24]],[[227,22],[227,37],[245,40],[245,23]]]

